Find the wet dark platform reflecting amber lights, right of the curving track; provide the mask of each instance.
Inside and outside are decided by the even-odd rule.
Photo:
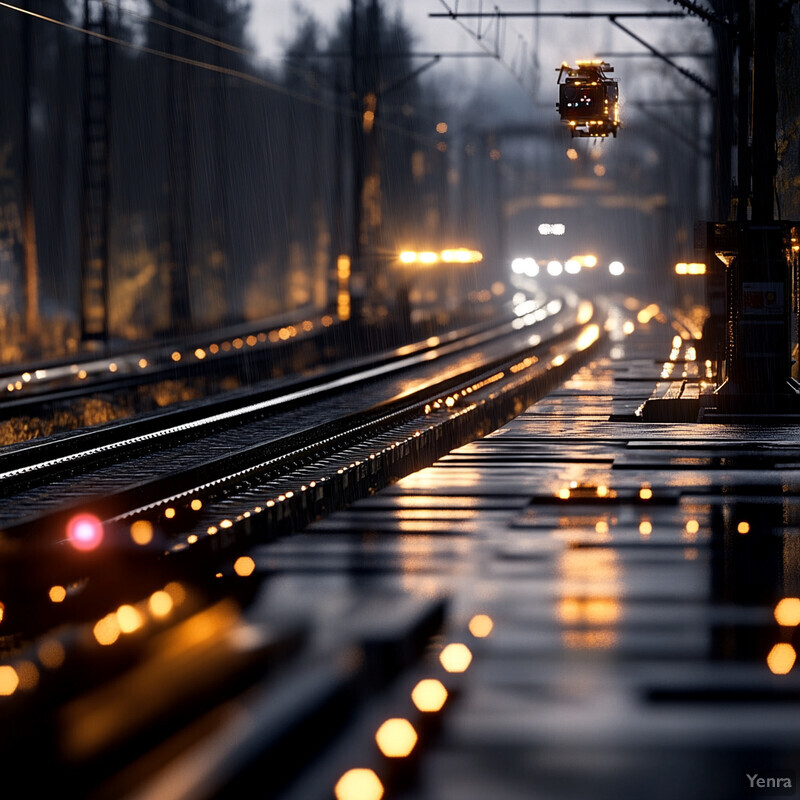
[[[502,429],[253,551],[256,617],[311,620],[323,663],[394,642],[280,797],[795,793],[800,435],[640,421],[673,334],[638,329]],[[398,718],[406,757],[376,739]]]

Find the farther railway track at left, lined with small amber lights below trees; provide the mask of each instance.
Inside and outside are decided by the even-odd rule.
[[[0,421],[58,411],[74,415],[75,402],[92,397],[116,402],[129,412],[126,415],[148,412],[161,405],[152,397],[159,385],[183,384],[190,394],[208,396],[230,391],[231,383],[248,387],[356,357],[354,348],[363,337],[352,322],[301,311],[260,325],[226,328],[213,336],[152,341],[134,349],[112,346],[108,353],[5,368],[0,371]],[[480,311],[448,315],[447,329],[490,324],[492,309]],[[443,329],[430,312],[421,312],[421,319],[410,327],[420,339]],[[388,323],[371,328],[371,336],[384,346],[406,338]]]

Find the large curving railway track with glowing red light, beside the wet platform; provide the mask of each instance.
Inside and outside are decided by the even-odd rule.
[[[574,371],[602,330],[591,304],[520,301],[491,328],[0,455],[0,679],[16,681],[0,700],[0,748],[48,763],[45,788],[120,797],[136,784],[131,765],[167,759],[155,743],[190,735],[201,712],[283,664],[311,680],[319,636],[307,620],[246,619],[257,590],[243,580],[248,548],[503,424]],[[342,656],[323,669],[325,697],[389,680],[443,613],[440,601],[387,609],[371,632],[342,621],[378,669]],[[186,644],[195,636],[199,649]],[[208,661],[195,680],[198,658]],[[306,715],[323,728],[324,708]],[[295,708],[273,720],[278,751],[304,718]]]

